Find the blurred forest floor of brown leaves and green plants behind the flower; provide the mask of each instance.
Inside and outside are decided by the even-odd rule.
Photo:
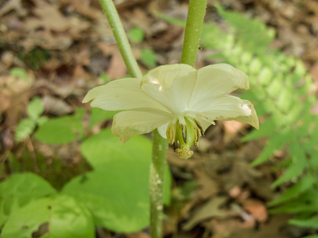
[[[144,73],[179,62],[188,1],[114,3]],[[191,159],[168,149],[164,237],[318,237],[317,34],[317,0],[208,0],[195,67],[246,72],[251,90],[234,95],[253,102],[260,129],[217,121]],[[1,237],[59,230],[24,217],[51,197],[87,220],[88,232],[57,237],[150,237],[151,134],[123,149],[109,132],[116,112],[81,103],[127,76],[98,0],[0,1]]]

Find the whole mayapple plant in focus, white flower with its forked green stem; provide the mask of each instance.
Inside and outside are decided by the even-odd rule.
[[[199,137],[214,120],[235,119],[258,128],[253,105],[226,95],[238,88],[248,89],[248,77],[228,64],[194,68],[207,0],[189,0],[180,64],[159,66],[145,76],[134,58],[113,1],[99,2],[132,77],[92,89],[83,102],[93,100],[92,107],[124,110],[115,115],[112,125],[113,133],[123,144],[133,135],[153,131],[150,235],[161,238],[167,141],[180,158],[187,159],[193,154],[192,144],[198,146]]]

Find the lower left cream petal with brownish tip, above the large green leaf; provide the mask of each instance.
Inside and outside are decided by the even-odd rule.
[[[111,130],[125,144],[131,136],[153,131],[173,115],[155,108],[136,108],[115,115]]]

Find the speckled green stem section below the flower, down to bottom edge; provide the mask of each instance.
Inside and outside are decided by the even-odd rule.
[[[150,165],[150,232],[151,238],[162,237],[163,186],[168,143],[158,130],[153,131],[153,158]]]

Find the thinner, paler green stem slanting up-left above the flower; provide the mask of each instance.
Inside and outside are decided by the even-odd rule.
[[[135,60],[123,24],[121,24],[118,12],[113,1],[99,0],[99,2],[106,14],[107,20],[116,39],[116,43],[118,45],[120,54],[123,57],[123,60],[125,61],[129,74],[132,77],[141,78],[143,74],[140,71],[137,61]]]

